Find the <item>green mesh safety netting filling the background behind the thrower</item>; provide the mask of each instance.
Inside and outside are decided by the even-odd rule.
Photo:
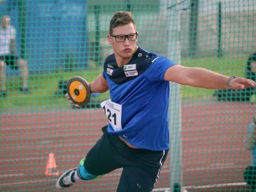
[[[10,17],[22,60],[17,70],[1,67],[0,88],[6,91],[0,97],[0,191],[54,191],[58,174],[78,166],[100,137],[107,123],[100,102],[109,93],[93,94],[81,109],[64,95],[70,77],[90,82],[102,72],[113,53],[109,20],[120,10],[132,12],[144,49],[187,67],[255,80],[253,0],[2,0],[0,15]],[[0,47],[7,44],[2,30]],[[154,191],[171,191],[176,180],[187,191],[248,190],[243,172],[252,160],[245,139],[255,102],[254,89],[175,86],[175,134]],[[121,172],[64,191],[115,191]]]

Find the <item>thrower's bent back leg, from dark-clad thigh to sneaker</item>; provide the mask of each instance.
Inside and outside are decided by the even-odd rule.
[[[99,179],[102,175],[121,168],[122,165],[118,163],[119,160],[120,155],[110,143],[108,134],[104,132],[86,157],[80,161],[78,167],[61,175],[56,182],[56,188],[68,188],[78,180]]]

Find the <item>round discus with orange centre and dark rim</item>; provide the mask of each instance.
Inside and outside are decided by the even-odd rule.
[[[67,93],[70,100],[79,106],[85,106],[90,101],[90,86],[83,77],[75,76],[69,79]]]

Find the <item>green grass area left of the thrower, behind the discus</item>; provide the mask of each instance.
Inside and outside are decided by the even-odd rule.
[[[0,109],[17,108],[49,108],[70,106],[64,96],[55,94],[60,80],[68,80],[74,76],[84,77],[87,81],[93,81],[99,76],[100,70],[79,70],[74,72],[58,72],[55,74],[38,74],[29,77],[30,93],[21,93],[18,88],[21,84],[18,79],[8,79],[8,97],[0,99]],[[109,93],[102,93],[101,99],[107,99]]]

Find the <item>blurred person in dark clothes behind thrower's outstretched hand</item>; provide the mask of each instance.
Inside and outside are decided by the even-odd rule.
[[[246,61],[245,78],[256,79],[256,52]],[[218,100],[256,102],[256,89],[251,87],[245,90],[217,90],[213,93]]]

